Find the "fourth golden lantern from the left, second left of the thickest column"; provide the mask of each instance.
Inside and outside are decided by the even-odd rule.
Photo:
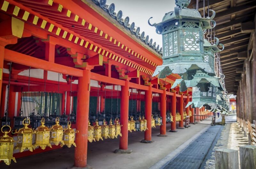
[[[59,117],[57,117],[55,119],[55,125],[53,125],[51,128],[50,128],[50,142],[51,143],[54,143],[56,146],[61,144],[61,147],[64,145],[64,142],[63,142],[63,127],[60,126],[60,120],[59,120]]]

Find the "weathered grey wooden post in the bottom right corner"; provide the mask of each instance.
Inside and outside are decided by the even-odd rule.
[[[256,146],[242,146],[239,151],[241,169],[256,168]]]

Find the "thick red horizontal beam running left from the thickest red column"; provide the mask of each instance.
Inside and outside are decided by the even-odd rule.
[[[68,74],[71,76],[82,77],[83,71],[73,67],[59,65],[42,59],[34,58],[12,50],[4,49],[4,60],[18,63],[21,65],[31,66],[37,69],[48,70],[52,72]]]

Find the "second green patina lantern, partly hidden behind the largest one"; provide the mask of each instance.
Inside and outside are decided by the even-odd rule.
[[[222,50],[220,50],[217,46],[219,44],[219,39],[215,38],[216,43],[211,44],[207,40],[204,39],[204,63],[208,63],[211,69],[214,71],[214,54],[222,51],[224,49],[224,45],[220,44],[222,46]],[[182,79],[176,79],[175,82],[172,85],[172,88],[175,88],[180,84],[180,91],[186,91],[188,87],[195,87],[197,86],[200,91],[207,92],[209,90],[209,87],[211,85],[214,85],[215,87],[218,87],[220,90],[223,90],[222,84],[224,84],[224,77],[222,77],[223,74],[220,74],[220,77],[216,76],[210,76],[208,73],[205,73],[201,69],[196,70],[195,75],[193,76],[193,79],[184,80]],[[222,79],[223,78],[223,79]]]

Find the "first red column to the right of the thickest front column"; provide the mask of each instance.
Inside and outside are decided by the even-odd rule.
[[[128,116],[129,116],[129,81],[125,81],[125,85],[121,86],[121,114],[120,123],[122,137],[120,137],[119,149],[128,149]]]

